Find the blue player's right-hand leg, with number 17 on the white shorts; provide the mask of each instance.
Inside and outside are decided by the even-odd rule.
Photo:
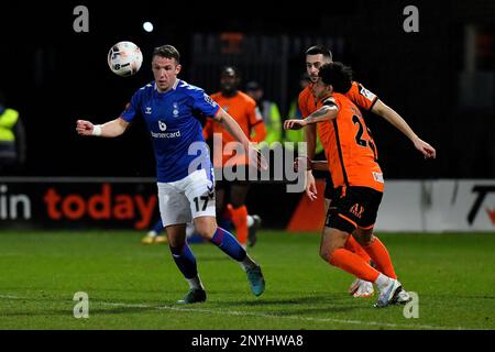
[[[183,187],[189,199],[196,232],[239,262],[248,274],[251,290],[260,296],[265,288],[261,267],[248,255],[232,233],[217,226],[215,190],[211,180],[206,177],[206,172],[193,173]]]

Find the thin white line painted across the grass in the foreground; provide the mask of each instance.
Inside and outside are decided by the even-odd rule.
[[[29,298],[21,298],[21,297],[11,296],[11,295],[0,295],[0,299],[29,299]],[[150,305],[142,305],[142,304],[130,305],[130,304],[123,304],[123,302],[98,301],[95,299],[91,300],[90,304],[91,302],[97,304],[97,305],[102,305],[102,306],[124,307],[124,308],[175,310],[175,311],[215,314],[215,315],[224,315],[224,316],[251,316],[251,317],[256,317],[256,318],[288,319],[288,320],[316,321],[316,322],[338,322],[338,323],[372,326],[372,327],[413,328],[413,329],[428,329],[428,330],[468,330],[468,328],[463,328],[463,327],[452,328],[452,327],[437,327],[437,326],[425,326],[425,324],[391,323],[391,322],[380,322],[380,321],[346,320],[346,319],[336,319],[336,318],[277,316],[277,315],[270,315],[270,314],[255,312],[255,311],[204,309],[204,308],[179,308],[179,307],[174,307],[174,306],[150,306]]]

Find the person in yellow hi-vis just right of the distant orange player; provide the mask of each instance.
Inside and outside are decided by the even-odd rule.
[[[263,118],[266,128],[266,136],[262,144],[270,147],[273,142],[282,142],[282,119],[280,111],[274,101],[264,99],[263,88],[257,81],[250,81],[245,86],[248,96],[256,101],[257,110]]]

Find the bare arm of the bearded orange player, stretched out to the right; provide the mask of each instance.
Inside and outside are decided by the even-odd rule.
[[[407,124],[407,122],[391,107],[386,106],[380,99],[373,106],[372,112],[381,116],[393,124],[397,130],[403,132],[415,145],[415,147],[425,155],[425,158],[435,158],[437,151],[427,142],[422,141]]]

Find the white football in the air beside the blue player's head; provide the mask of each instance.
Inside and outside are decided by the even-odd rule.
[[[143,63],[143,54],[132,42],[119,42],[108,53],[108,66],[112,73],[128,77],[135,75]]]

